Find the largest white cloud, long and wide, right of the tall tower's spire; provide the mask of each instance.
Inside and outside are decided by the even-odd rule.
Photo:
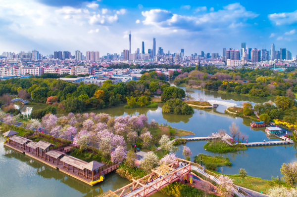
[[[205,13],[198,16],[186,16],[173,14],[162,9],[151,9],[143,11],[146,17],[143,21],[145,25],[154,25],[161,28],[185,29],[199,31],[207,26],[218,27],[240,27],[244,26],[244,21],[253,19],[258,14],[247,11],[240,3],[232,3],[223,7],[224,9],[216,12]],[[204,8],[203,8],[204,9]],[[205,26],[207,24],[207,26]]]

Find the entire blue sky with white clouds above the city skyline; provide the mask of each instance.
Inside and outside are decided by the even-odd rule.
[[[222,48],[275,49],[297,55],[297,1],[1,0],[0,53],[100,51],[100,56],[156,46],[164,52],[222,53]]]

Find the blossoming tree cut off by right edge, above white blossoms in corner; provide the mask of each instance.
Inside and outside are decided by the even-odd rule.
[[[281,174],[284,175],[286,183],[295,187],[297,185],[297,162],[283,163]]]

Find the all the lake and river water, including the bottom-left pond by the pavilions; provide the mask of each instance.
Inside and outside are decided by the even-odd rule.
[[[181,88],[185,89],[185,87]],[[253,105],[271,100],[268,98],[255,98],[243,95],[220,94],[218,92],[203,91],[194,88],[192,90],[194,91],[193,97],[198,98],[199,96],[199,98],[202,98],[203,100],[221,100],[236,104],[248,101]],[[34,110],[44,108],[44,106],[36,105],[17,105],[24,114],[30,114]],[[167,123],[171,127],[192,131],[196,134],[195,137],[208,136],[211,135],[211,133],[217,132],[219,129],[226,129],[229,132],[229,126],[232,122],[235,122],[240,126],[241,132],[246,133],[249,136],[248,142],[259,142],[264,139],[266,141],[269,140],[264,132],[264,128],[251,129],[251,120],[246,118],[235,118],[224,114],[224,110],[227,109],[227,107],[222,105],[211,110],[195,109],[195,114],[189,116],[162,114],[161,107],[162,104],[159,104],[158,108],[125,109],[123,105],[120,105],[114,108],[88,111],[88,113],[107,113],[116,117],[144,114],[149,120],[154,119],[159,122],[159,124]],[[66,115],[66,113],[58,112],[58,116],[61,116],[62,114]],[[232,162],[232,167],[223,167],[224,174],[237,174],[239,168],[245,168],[248,176],[270,180],[271,176],[280,176],[280,168],[283,163],[297,161],[296,145],[247,148],[247,151],[236,153],[212,154],[203,149],[205,143],[206,141],[194,141],[186,144],[193,153],[191,160],[193,160],[194,156],[199,153],[228,157]],[[182,158],[183,145],[179,148],[180,151],[178,151],[176,155]],[[4,183],[1,184],[0,189],[4,192],[4,196],[22,195],[23,197],[32,197],[32,194],[34,193],[33,196],[87,197],[96,196],[109,189],[116,190],[129,183],[126,179],[113,173],[107,175],[106,180],[103,183],[99,183],[92,188],[67,177],[59,171],[44,166],[38,161],[32,161],[32,159],[27,158],[22,154],[13,152],[7,155],[5,154],[5,151],[7,152],[8,149],[0,146],[0,182]],[[219,171],[221,172],[221,169],[219,169]],[[29,192],[29,188],[32,192]],[[12,192],[14,190],[15,192]],[[155,196],[161,197],[163,195],[156,193]]]

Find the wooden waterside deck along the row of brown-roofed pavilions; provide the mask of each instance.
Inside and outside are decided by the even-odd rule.
[[[36,160],[38,160],[40,162],[43,162],[43,163],[49,165],[50,167],[52,167],[54,169],[57,169],[57,170],[65,173],[65,174],[67,174],[68,176],[71,176],[73,178],[76,178],[76,179],[78,179],[78,180],[80,180],[80,181],[82,181],[82,182],[84,182],[84,183],[86,183],[88,185],[91,185],[91,186],[96,185],[96,184],[91,184],[90,183],[91,182],[90,179],[87,179],[86,177],[83,177],[83,176],[79,176],[77,170],[75,170],[73,172],[73,169],[72,168],[70,170],[67,170],[66,168],[63,168],[63,162],[62,161],[59,161],[59,165],[57,165],[56,160],[54,161],[54,163],[52,163],[52,158],[50,158],[49,160],[48,159],[47,160],[44,160],[42,158],[38,158],[35,155],[35,153],[32,154],[32,151],[29,153],[29,150],[28,149],[25,149],[25,150],[22,149],[21,150],[20,147],[17,148],[16,146],[10,145],[8,143],[5,143],[4,146],[6,146],[6,147],[8,147],[10,149],[13,149],[13,150],[15,150],[17,152],[23,153],[23,154],[25,154],[26,156],[28,156],[30,158],[34,158],[34,159],[36,159]],[[113,170],[117,169],[117,167],[118,167],[118,165],[107,166],[107,168],[103,169],[101,171],[101,173],[104,172],[104,174],[107,174],[107,173],[112,172]]]

